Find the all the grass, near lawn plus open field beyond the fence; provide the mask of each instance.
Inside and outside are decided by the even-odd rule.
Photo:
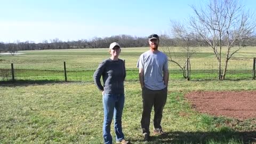
[[[125,59],[127,69],[123,131],[132,143],[143,143],[140,130],[141,90],[135,65],[139,55],[147,49],[122,49],[120,57]],[[250,70],[252,58],[256,55],[253,49],[249,47],[235,55],[230,62],[236,66],[230,65],[230,70],[236,72],[239,63],[245,67],[244,70]],[[102,96],[89,78],[99,62],[108,58],[107,49],[22,53],[26,54],[0,57],[0,68],[8,68],[10,63],[14,63],[16,68],[22,69],[18,73],[20,77],[31,76],[30,81],[0,85],[0,143],[102,143]],[[81,80],[81,75],[89,71],[88,79],[83,77],[83,82],[55,82],[54,79],[63,75],[63,61],[67,62],[68,74],[76,75],[80,71],[76,77]],[[203,62],[216,65],[211,51],[202,49],[191,60],[191,65],[199,63],[191,66],[198,72],[191,81],[182,79],[179,69],[169,63],[172,70],[162,121],[168,136],[154,136],[149,143],[251,143],[253,141],[250,140],[256,138],[256,118],[237,121],[201,114],[193,110],[184,98],[184,94],[191,91],[256,90],[255,80],[250,79],[250,74],[247,78],[244,73],[235,73],[225,81],[218,81],[211,66],[200,69]],[[43,71],[48,76],[35,79]],[[55,71],[59,71],[59,75]],[[152,124],[150,128],[153,129]],[[114,137],[113,128],[111,132]]]

